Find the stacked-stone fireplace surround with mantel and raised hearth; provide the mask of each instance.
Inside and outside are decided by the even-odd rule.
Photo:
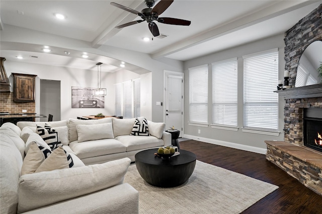
[[[322,84],[294,88],[299,59],[314,41],[322,41],[322,5],[285,33],[285,70],[292,86],[276,91],[285,100],[284,141],[265,141],[266,159],[322,195],[322,152],[303,145],[303,109],[322,108]]]

